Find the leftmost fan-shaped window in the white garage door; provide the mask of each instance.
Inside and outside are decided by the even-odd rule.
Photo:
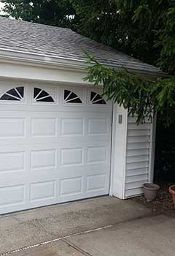
[[[15,87],[15,88],[12,88],[9,91],[5,92],[0,97],[0,100],[20,101],[23,99],[23,96],[24,96],[24,88],[23,87]]]

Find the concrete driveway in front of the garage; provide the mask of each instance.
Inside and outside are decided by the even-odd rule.
[[[98,197],[0,217],[0,256],[174,255],[175,219]]]

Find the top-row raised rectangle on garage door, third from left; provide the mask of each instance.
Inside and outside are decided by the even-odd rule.
[[[61,118],[61,135],[83,135],[83,118]]]

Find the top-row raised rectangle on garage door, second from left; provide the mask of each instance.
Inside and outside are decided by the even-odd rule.
[[[31,118],[32,136],[56,136],[56,118]]]

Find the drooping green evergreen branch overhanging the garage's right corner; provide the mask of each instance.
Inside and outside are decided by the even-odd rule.
[[[85,81],[94,86],[103,85],[103,95],[118,105],[128,109],[129,115],[137,116],[137,124],[144,123],[146,118],[152,121],[158,111],[169,126],[174,121],[175,111],[175,79],[158,78],[147,80],[141,75],[117,70],[100,64],[94,56],[85,53],[88,75]]]

